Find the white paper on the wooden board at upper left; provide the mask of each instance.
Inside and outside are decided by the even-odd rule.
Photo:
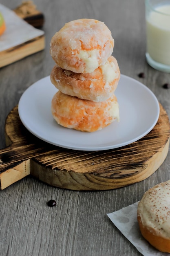
[[[0,4],[0,12],[6,23],[6,30],[0,36],[0,52],[44,34],[44,31],[35,29],[2,4]]]

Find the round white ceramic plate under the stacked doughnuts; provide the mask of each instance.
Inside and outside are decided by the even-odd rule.
[[[144,137],[157,123],[159,103],[142,83],[121,75],[115,91],[120,122],[96,132],[64,128],[51,114],[51,100],[57,92],[47,76],[31,85],[20,98],[18,111],[24,126],[36,137],[62,148],[106,150],[128,145]]]

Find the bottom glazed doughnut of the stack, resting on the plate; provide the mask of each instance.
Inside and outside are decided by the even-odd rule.
[[[114,94],[107,101],[94,102],[58,91],[52,99],[51,112],[58,124],[83,132],[101,130],[115,119],[119,121],[119,106]]]

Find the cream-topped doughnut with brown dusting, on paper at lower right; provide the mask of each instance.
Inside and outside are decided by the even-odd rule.
[[[137,220],[142,236],[159,251],[170,253],[170,180],[144,194]]]

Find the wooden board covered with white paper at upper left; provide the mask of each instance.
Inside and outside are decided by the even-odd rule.
[[[28,13],[29,16],[31,13],[38,13],[39,18],[40,16],[42,18],[43,24],[43,14],[36,10],[35,5],[31,4],[31,1],[23,2],[21,8],[22,16],[20,16],[21,9],[19,12],[18,9],[13,11],[7,8],[7,6],[0,4],[0,12],[4,17],[5,24],[4,33],[0,37],[0,68],[40,52],[45,47],[44,32],[40,29],[35,29],[32,25],[28,25],[28,22],[24,21]],[[34,25],[36,26],[36,21]]]

